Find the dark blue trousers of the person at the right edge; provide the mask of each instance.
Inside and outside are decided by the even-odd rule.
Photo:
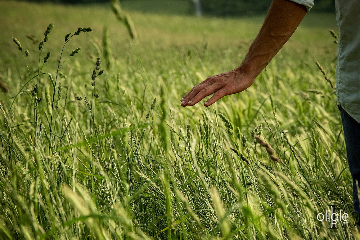
[[[357,185],[360,187],[360,123],[352,118],[342,107],[338,105],[344,130],[347,161],[352,176],[352,194],[354,210],[359,216],[357,224],[360,225],[360,206],[357,195]],[[356,185],[357,182],[357,185]]]

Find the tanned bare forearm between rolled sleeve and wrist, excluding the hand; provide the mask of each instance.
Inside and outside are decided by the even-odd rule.
[[[264,24],[239,70],[255,78],[291,37],[305,15],[303,5],[289,0],[273,0]]]

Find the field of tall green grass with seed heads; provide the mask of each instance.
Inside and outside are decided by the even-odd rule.
[[[315,64],[335,83],[333,14],[308,14],[249,89],[208,108],[179,100],[237,67],[264,16],[129,14],[136,40],[107,5],[0,1],[0,239],[357,237],[336,95]],[[29,81],[50,22],[46,74]],[[56,78],[78,27],[94,31],[69,40],[62,62],[81,50]],[[348,225],[318,221],[328,205]]]

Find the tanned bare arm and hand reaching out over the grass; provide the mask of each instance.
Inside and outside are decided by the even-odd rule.
[[[303,5],[289,0],[273,0],[264,24],[238,68],[212,76],[194,86],[182,98],[181,105],[193,106],[211,95],[208,107],[222,97],[244,91],[278,53],[306,15]]]

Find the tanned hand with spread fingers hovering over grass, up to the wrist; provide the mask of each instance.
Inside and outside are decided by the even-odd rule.
[[[208,107],[226,95],[244,91],[252,85],[253,81],[254,78],[244,74],[240,68],[208,77],[205,81],[194,86],[180,100],[181,106],[193,106],[203,98],[214,94],[204,103],[204,106]]]

